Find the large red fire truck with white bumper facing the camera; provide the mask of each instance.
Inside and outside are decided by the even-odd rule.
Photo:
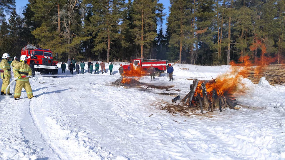
[[[56,64],[58,61],[53,60],[52,51],[49,49],[40,49],[28,44],[22,49],[21,55],[29,57],[27,64],[30,65],[33,76],[35,72],[40,72],[41,74],[57,74],[58,67]]]

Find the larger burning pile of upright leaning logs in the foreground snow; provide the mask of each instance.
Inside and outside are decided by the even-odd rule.
[[[220,112],[222,108],[228,107],[229,109],[235,109],[237,100],[231,97],[228,93],[223,93],[221,90],[214,87],[215,80],[213,81],[199,81],[195,79],[193,84],[190,85],[190,92],[181,100],[181,103],[203,110],[213,112],[214,108],[219,108]]]

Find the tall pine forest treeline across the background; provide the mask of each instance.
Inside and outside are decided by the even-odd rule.
[[[19,56],[34,44],[59,61],[283,61],[284,0],[170,0],[166,26],[163,10],[156,0],[29,0],[19,16],[14,0],[1,0],[0,53]]]

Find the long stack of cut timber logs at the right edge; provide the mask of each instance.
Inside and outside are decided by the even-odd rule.
[[[271,84],[285,83],[285,65],[284,64],[271,64],[266,66],[250,67],[241,74],[250,79],[253,83],[258,84],[261,77],[265,77]]]

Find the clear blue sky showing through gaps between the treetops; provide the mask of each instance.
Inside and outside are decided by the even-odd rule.
[[[159,2],[164,5],[164,8],[165,8],[164,13],[166,13],[166,16],[168,16],[168,13],[169,13],[168,7],[170,6],[169,0],[160,0]],[[18,14],[22,13],[22,10],[24,9],[24,6],[27,3],[29,3],[28,0],[16,0],[16,10]],[[162,25],[163,31],[166,30],[166,16],[164,17],[164,20],[163,20],[163,25]]]

